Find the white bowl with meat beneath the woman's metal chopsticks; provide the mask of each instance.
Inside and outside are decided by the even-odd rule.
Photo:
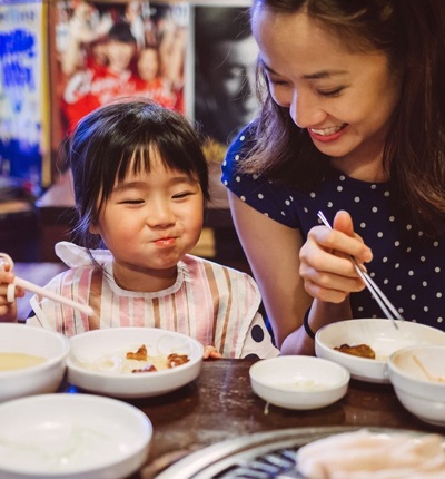
[[[436,328],[411,321],[397,321],[398,330],[386,319],[339,321],[328,324],[315,335],[315,353],[344,365],[353,379],[389,383],[388,358],[395,351],[417,344],[445,345],[445,333]],[[342,344],[367,344],[376,359],[358,358],[334,350]]]

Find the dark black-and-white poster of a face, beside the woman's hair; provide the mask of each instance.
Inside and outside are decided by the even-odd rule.
[[[248,10],[246,2],[230,7],[207,2],[194,9],[194,116],[210,136],[216,156],[224,155],[259,108],[255,87],[258,48]]]

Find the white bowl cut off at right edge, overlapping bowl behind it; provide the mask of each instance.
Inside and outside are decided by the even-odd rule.
[[[445,426],[445,346],[412,346],[388,361],[389,380],[402,404],[425,422]]]

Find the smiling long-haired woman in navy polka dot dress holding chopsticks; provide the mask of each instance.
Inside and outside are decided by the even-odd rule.
[[[254,0],[261,111],[222,182],[284,354],[314,353],[330,322],[383,316],[346,255],[406,320],[445,329],[444,9]]]

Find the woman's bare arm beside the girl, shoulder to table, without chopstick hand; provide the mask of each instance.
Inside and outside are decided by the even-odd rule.
[[[243,248],[283,354],[313,354],[314,341],[301,328],[312,303],[299,275],[301,235],[257,212],[228,192]]]

